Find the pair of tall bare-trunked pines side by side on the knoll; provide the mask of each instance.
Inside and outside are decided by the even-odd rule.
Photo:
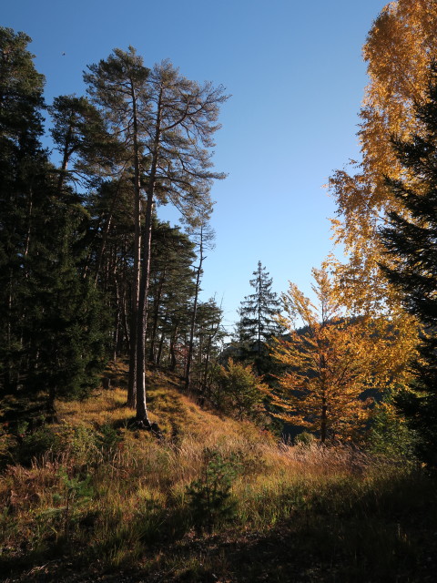
[[[145,365],[153,209],[156,201],[171,202],[189,223],[212,210],[212,180],[224,175],[211,171],[210,148],[214,145],[212,136],[219,129],[219,105],[227,97],[223,87],[190,81],[168,61],[147,69],[132,47],[128,52],[115,49],[107,61],[88,68],[88,92],[107,112],[114,130],[131,145],[136,234],[129,404],[136,396],[137,423],[150,427]]]

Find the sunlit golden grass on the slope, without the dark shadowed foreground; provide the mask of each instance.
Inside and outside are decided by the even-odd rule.
[[[187,488],[202,476],[206,450],[237,468],[235,532],[268,532],[290,517],[307,524],[320,505],[333,515],[357,504],[373,508],[382,504],[381,484],[401,475],[351,447],[279,444],[249,421],[200,409],[163,374],[148,377],[150,418],[163,430],[158,440],[130,428],[123,374],[118,369],[119,383],[87,401],[58,403],[56,444],[30,467],[10,465],[0,476],[6,563],[27,557],[33,564],[59,544],[64,553],[116,567],[156,563],[153,545],[187,536],[193,526]]]

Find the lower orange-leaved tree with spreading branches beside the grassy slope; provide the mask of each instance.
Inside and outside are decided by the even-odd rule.
[[[279,418],[310,429],[325,443],[349,439],[364,427],[373,402],[363,398],[366,389],[383,391],[405,380],[415,331],[407,327],[400,334],[384,318],[346,317],[327,271],[313,270],[313,276],[319,305],[294,283],[282,294],[285,315],[279,323],[287,333],[275,339],[272,354],[286,372],[272,404]]]

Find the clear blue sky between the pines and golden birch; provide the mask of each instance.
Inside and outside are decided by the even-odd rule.
[[[4,3],[1,25],[33,38],[47,102],[84,93],[86,65],[128,45],[147,66],[168,57],[186,77],[227,87],[215,166],[229,178],[213,189],[203,298],[223,298],[230,328],[259,260],[276,292],[290,280],[308,293],[311,268],[331,250],[335,208],[322,185],[359,156],[361,46],[385,4],[20,0]]]

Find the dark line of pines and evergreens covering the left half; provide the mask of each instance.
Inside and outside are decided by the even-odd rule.
[[[127,402],[149,427],[146,363],[201,389],[223,336],[217,302],[198,295],[227,96],[129,46],[87,67],[86,96],[47,107],[30,41],[0,29],[0,391],[54,413],[128,354]],[[185,230],[158,220],[168,203]]]

